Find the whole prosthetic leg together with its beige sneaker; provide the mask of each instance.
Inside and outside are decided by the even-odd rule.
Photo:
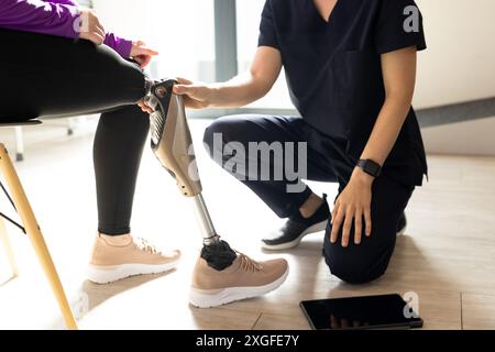
[[[146,103],[155,111],[150,116],[152,150],[175,178],[179,191],[194,200],[202,232],[204,246],[195,267],[190,301],[198,307],[213,307],[264,295],[285,280],[287,262],[254,262],[220,239],[201,195],[183,98],[173,94],[175,84],[174,79],[155,84]]]

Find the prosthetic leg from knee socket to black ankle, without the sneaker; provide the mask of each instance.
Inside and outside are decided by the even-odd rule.
[[[220,271],[232,264],[237,253],[220,239],[205,204],[183,98],[173,94],[175,84],[174,79],[163,80],[152,87],[146,98],[155,111],[150,116],[151,146],[179,191],[194,200],[202,232],[201,257]]]

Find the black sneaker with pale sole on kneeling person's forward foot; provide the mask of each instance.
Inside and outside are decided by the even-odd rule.
[[[288,250],[297,246],[302,238],[309,233],[323,231],[330,218],[330,209],[327,204],[327,195],[323,195],[323,204],[310,217],[304,218],[299,212],[290,217],[285,224],[268,239],[263,239],[262,248],[270,251]]]

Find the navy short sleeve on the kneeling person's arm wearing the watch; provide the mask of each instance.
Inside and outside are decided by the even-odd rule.
[[[375,47],[384,54],[408,46],[427,47],[422,15],[414,0],[382,0],[375,30]]]

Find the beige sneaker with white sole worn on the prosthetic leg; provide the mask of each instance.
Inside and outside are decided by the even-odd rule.
[[[231,266],[217,271],[199,257],[193,274],[189,301],[199,308],[210,308],[263,296],[278,288],[287,275],[288,264],[283,258],[258,263],[238,253]]]

